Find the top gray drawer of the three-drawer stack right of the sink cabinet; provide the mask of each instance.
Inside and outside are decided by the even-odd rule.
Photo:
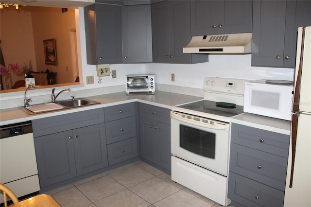
[[[105,121],[114,121],[136,115],[136,103],[119,104],[104,108]]]

